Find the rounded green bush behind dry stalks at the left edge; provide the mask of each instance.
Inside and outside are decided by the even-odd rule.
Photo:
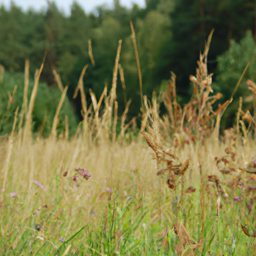
[[[28,104],[32,92],[34,81],[29,80],[28,84]],[[8,106],[9,97],[12,95],[14,86],[17,85],[16,92],[13,96],[12,103]],[[2,81],[0,81],[0,135],[9,134],[12,128],[14,119],[14,111],[19,106],[16,129],[21,117],[21,108],[23,103],[23,91],[24,91],[24,74],[8,73],[3,74]],[[58,87],[48,87],[46,83],[38,83],[36,98],[34,102],[34,108],[32,112],[32,130],[38,132],[46,114],[47,119],[43,129],[43,136],[47,136],[51,131],[52,121],[56,112],[56,108],[61,96],[61,92]],[[65,115],[68,117],[69,134],[73,134],[76,130],[77,120],[70,102],[65,98],[58,118],[59,123],[57,125],[57,134],[61,133],[65,129]],[[24,124],[24,120],[23,120]]]

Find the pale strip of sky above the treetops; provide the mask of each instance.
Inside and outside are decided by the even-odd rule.
[[[52,1],[52,0],[50,0]],[[54,0],[59,9],[62,9],[66,14],[70,13],[70,5],[73,0]],[[47,6],[47,0],[13,0],[15,5],[20,6],[22,10],[27,10],[29,7],[33,7],[35,10],[40,10],[43,6]],[[113,0],[76,0],[79,5],[85,10],[86,13],[94,10],[96,6],[107,4],[108,7],[112,7]],[[120,5],[131,7],[132,2],[138,4],[140,7],[145,6],[145,0],[119,0]],[[0,0],[6,8],[10,6],[10,0]]]

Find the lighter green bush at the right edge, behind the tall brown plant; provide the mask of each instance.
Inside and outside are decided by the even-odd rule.
[[[232,121],[235,121],[233,117],[238,108],[239,96],[243,98],[244,107],[252,108],[252,102],[247,102],[246,100],[246,97],[251,95],[246,80],[256,81],[255,53],[256,42],[251,31],[247,31],[245,37],[239,43],[231,40],[228,50],[217,57],[216,82],[213,86],[223,94],[223,100],[230,98],[244,68],[250,61],[250,65],[239,84],[233,101],[222,118],[222,127],[231,126]]]

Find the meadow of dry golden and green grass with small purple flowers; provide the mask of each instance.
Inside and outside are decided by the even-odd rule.
[[[57,73],[62,95],[51,133],[41,136],[42,123],[32,134],[42,63],[30,99],[24,93],[21,111],[13,113],[11,133],[0,138],[1,255],[255,254],[256,118],[240,99],[236,125],[219,134],[233,95],[216,104],[221,95],[207,73],[211,34],[184,107],[174,74],[167,91],[153,93],[151,101],[140,83],[139,128],[135,118],[126,120],[130,101],[117,116],[119,42],[111,90],[105,86],[98,100],[90,91],[90,106],[82,82],[86,66],[81,72],[83,120],[75,134],[69,137],[68,121],[56,132],[67,90]],[[248,85],[255,100],[256,85]]]

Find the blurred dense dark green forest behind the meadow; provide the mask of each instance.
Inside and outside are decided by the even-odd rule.
[[[83,82],[90,102],[89,88],[98,98],[105,82],[108,89],[111,86],[116,49],[121,39],[119,62],[124,73],[126,98],[132,99],[128,113],[132,117],[139,113],[140,94],[130,21],[136,34],[143,94],[150,98],[153,90],[157,93],[164,91],[172,71],[177,77],[177,94],[181,104],[191,95],[189,75],[195,74],[199,52],[214,28],[208,55],[208,71],[214,73],[213,89],[224,94],[223,100],[230,97],[243,69],[251,60],[237,93],[245,97],[249,95],[249,90],[245,89],[246,78],[256,79],[255,13],[255,0],[146,0],[145,8],[133,4],[131,9],[114,0],[113,9],[102,5],[88,14],[74,1],[68,16],[50,1],[41,11],[22,11],[11,3],[9,9],[0,7],[0,64],[9,76],[14,77],[24,72],[25,59],[29,59],[30,76],[33,78],[46,50],[40,80],[49,88],[56,87],[52,69],[59,72],[63,84],[69,85],[68,98],[78,120],[81,118],[80,99],[78,96],[73,100],[72,95],[83,66],[89,64]],[[89,39],[94,65],[88,54]],[[3,89],[11,90],[3,86],[3,82],[1,94]],[[1,96],[2,101],[8,99],[5,94]],[[119,74],[117,96],[118,111],[122,112],[125,96]],[[51,100],[58,101],[58,98]],[[3,103],[0,108],[3,115]],[[230,114],[233,114],[232,111],[230,107]],[[38,123],[42,118],[43,114]],[[224,125],[230,125],[228,118]]]

